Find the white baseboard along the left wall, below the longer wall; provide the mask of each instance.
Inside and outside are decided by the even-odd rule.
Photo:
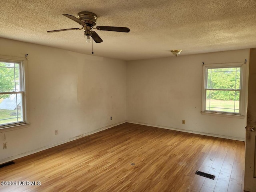
[[[109,126],[106,126],[106,127],[102,127],[102,128],[97,129],[97,130],[94,130],[94,131],[91,131],[91,132],[88,132],[88,133],[85,133],[85,134],[82,134],[82,135],[79,135],[79,136],[76,136],[76,137],[73,137],[73,138],[69,138],[67,140],[64,140],[64,141],[61,141],[61,142],[58,142],[58,143],[54,143],[54,144],[47,145],[47,146],[44,146],[44,147],[41,147],[41,148],[38,148],[38,149],[34,149],[34,150],[31,150],[31,151],[28,151],[28,152],[25,152],[25,153],[22,153],[22,154],[18,154],[18,155],[12,156],[12,157],[2,159],[2,160],[0,160],[0,164],[6,163],[6,162],[9,162],[9,161],[12,161],[12,160],[24,157],[24,156],[28,156],[28,155],[31,155],[31,154],[34,154],[34,153],[37,153],[37,152],[40,152],[40,151],[43,151],[43,150],[46,150],[46,149],[64,144],[64,143],[67,143],[67,142],[70,142],[70,141],[73,141],[73,140],[76,140],[76,139],[79,139],[79,138],[82,138],[82,137],[85,137],[85,136],[103,131],[103,130],[106,130],[106,129],[109,129],[109,128],[112,128],[114,126],[123,124],[125,122],[126,121],[119,122],[119,123],[116,123],[116,124],[112,124],[112,125],[109,125]]]

